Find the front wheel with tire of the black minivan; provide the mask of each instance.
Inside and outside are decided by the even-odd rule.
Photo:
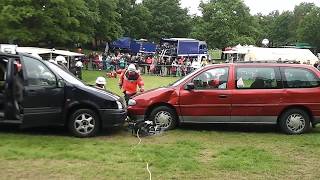
[[[71,114],[68,128],[76,137],[93,137],[100,129],[100,120],[94,111],[79,109]]]

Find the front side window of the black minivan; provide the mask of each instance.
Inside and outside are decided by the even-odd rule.
[[[27,56],[23,59],[29,86],[54,87],[57,85],[56,76],[42,62]]]

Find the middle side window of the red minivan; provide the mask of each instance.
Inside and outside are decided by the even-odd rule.
[[[278,83],[272,67],[244,67],[236,71],[237,89],[276,89]]]

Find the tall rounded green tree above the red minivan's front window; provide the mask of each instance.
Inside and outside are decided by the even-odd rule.
[[[212,48],[252,44],[257,36],[254,18],[241,0],[211,0],[201,5],[202,25],[192,35],[203,37]],[[198,23],[199,24],[199,23]]]

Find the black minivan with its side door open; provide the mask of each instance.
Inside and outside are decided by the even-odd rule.
[[[85,85],[59,65],[28,54],[0,53],[0,123],[67,126],[77,137],[91,137],[105,127],[121,126],[126,117],[123,98]]]

